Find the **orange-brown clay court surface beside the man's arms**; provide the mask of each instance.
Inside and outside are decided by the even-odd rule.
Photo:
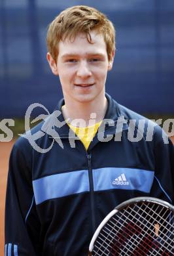
[[[174,144],[174,136],[171,138]],[[1,179],[0,179],[0,255],[3,255],[4,251],[4,213],[5,213],[5,190],[7,184],[7,171],[9,164],[9,156],[12,145],[14,144],[14,140],[11,142],[0,142],[0,171],[1,171]]]

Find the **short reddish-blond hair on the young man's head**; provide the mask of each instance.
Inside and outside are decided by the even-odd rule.
[[[60,12],[50,23],[46,37],[48,52],[56,61],[58,43],[66,38],[75,39],[78,33],[86,33],[89,43],[92,43],[90,32],[96,30],[103,34],[109,61],[115,50],[115,30],[113,23],[100,11],[93,7],[77,5]]]

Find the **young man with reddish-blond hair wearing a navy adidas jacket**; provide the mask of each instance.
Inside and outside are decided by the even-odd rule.
[[[105,93],[115,49],[111,21],[91,7],[66,9],[50,24],[47,43],[63,91],[62,125],[53,127],[51,115],[32,129],[48,132],[36,140],[40,148],[52,145],[44,154],[24,138],[12,149],[6,255],[87,255],[94,231],[118,203],[174,199],[171,141]]]

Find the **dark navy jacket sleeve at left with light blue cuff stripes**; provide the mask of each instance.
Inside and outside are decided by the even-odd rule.
[[[26,157],[16,144],[10,154],[7,179],[5,256],[35,256],[40,255],[40,222],[33,196],[31,155]]]

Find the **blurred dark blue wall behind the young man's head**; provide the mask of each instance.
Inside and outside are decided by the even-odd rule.
[[[62,93],[46,61],[46,30],[73,5],[96,7],[116,27],[106,91],[141,114],[174,114],[173,0],[1,0],[0,118],[22,117],[34,102],[54,110]]]

